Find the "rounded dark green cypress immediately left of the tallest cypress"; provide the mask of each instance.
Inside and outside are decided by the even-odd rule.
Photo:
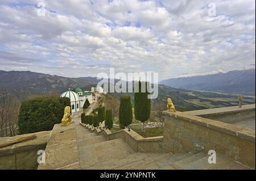
[[[133,111],[129,95],[123,95],[120,98],[119,106],[119,124],[127,127],[133,121]]]

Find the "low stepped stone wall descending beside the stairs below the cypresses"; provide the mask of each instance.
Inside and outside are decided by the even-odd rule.
[[[158,137],[149,137],[143,138],[137,132],[132,129],[128,131],[128,129],[121,129],[117,132],[112,133],[109,129],[91,129],[88,125],[84,125],[89,128],[91,131],[95,131],[97,134],[102,134],[106,140],[114,140],[117,138],[122,138],[123,141],[126,142],[133,150],[142,152],[142,153],[150,153],[150,152],[158,152],[163,153],[163,136]]]

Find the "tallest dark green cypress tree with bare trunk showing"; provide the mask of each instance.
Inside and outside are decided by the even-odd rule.
[[[134,93],[134,115],[135,119],[141,121],[142,131],[145,131],[144,122],[150,117],[151,110],[151,100],[148,99],[148,82],[144,82],[146,85],[146,91],[142,90],[142,83],[139,81],[136,86],[138,86],[138,92]]]

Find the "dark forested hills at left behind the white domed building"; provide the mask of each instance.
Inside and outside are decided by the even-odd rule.
[[[23,99],[29,95],[40,95],[67,91],[81,87],[90,90],[97,82],[93,78],[67,78],[31,71],[0,70],[0,86],[4,85],[11,93]]]

